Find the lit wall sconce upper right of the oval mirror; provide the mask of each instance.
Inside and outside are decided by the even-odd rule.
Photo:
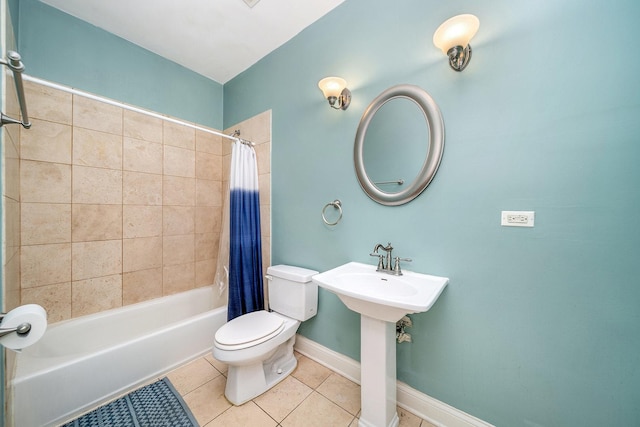
[[[469,41],[479,27],[480,21],[474,15],[458,15],[444,21],[433,35],[433,44],[449,57],[454,70],[464,70],[471,60]]]

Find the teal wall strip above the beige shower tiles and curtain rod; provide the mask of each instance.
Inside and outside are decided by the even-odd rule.
[[[221,84],[36,0],[19,23],[26,74],[222,128]]]

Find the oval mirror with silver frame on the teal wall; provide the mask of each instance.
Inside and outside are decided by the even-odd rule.
[[[371,199],[401,205],[427,188],[443,150],[444,122],[433,98],[418,86],[393,86],[360,119],[353,153],[356,175]]]

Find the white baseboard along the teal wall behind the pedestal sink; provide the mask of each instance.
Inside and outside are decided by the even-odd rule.
[[[295,350],[360,384],[359,362],[302,335],[296,335]],[[398,406],[439,427],[494,427],[400,381],[398,381],[396,398]]]

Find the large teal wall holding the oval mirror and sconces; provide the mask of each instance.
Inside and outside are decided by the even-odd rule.
[[[462,73],[432,44],[459,13],[480,19]],[[638,18],[636,0],[347,0],[224,86],[225,126],[272,109],[273,262],[373,264],[392,242],[406,269],[450,278],[398,346],[400,380],[498,426],[640,425]],[[347,111],[322,100],[328,75]],[[385,207],[353,139],[399,83],[439,104],[445,152],[420,197]],[[501,210],[536,226],[501,227]],[[359,358],[357,315],[324,290],[301,333]]]

